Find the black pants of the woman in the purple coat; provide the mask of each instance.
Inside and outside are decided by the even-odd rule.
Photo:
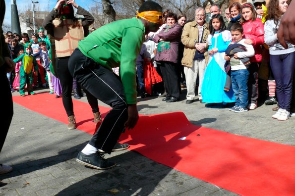
[[[180,83],[177,74],[177,64],[169,61],[159,62],[161,63],[160,69],[163,75],[163,81],[167,93],[166,98],[175,97],[178,100],[180,94]]]

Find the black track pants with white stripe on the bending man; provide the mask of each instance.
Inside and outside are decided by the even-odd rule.
[[[84,89],[112,107],[89,142],[91,146],[111,153],[128,119],[122,82],[113,71],[86,57],[79,49],[72,53],[68,68]]]

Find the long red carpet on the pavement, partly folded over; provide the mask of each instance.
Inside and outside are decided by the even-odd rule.
[[[13,101],[67,123],[61,98],[38,94]],[[78,129],[93,133],[90,106],[73,101]],[[104,115],[109,110],[100,109]],[[295,195],[295,147],[195,126],[182,112],[141,116],[120,141],[152,160],[239,195]]]

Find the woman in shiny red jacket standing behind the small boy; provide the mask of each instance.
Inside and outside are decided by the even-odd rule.
[[[245,3],[241,7],[241,24],[244,29],[245,44],[252,45],[255,55],[250,57],[248,79],[248,109],[257,108],[258,99],[258,68],[262,61],[262,45],[264,43],[264,26],[251,3]]]

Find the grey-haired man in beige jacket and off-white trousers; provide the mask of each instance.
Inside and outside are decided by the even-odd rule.
[[[181,35],[181,42],[184,45],[181,64],[184,66],[184,74],[186,78],[186,104],[192,103],[195,98],[195,87],[198,74],[198,98],[200,102],[202,102],[202,81],[209,58],[207,53],[209,28],[208,24],[205,22],[205,9],[198,7],[196,8],[195,14],[195,20],[184,25]]]

